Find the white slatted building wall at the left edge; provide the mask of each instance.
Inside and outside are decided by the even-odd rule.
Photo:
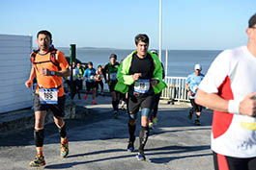
[[[31,52],[32,36],[0,35],[0,113],[32,107]]]

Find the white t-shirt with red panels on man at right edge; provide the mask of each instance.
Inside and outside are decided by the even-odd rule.
[[[246,46],[223,51],[213,61],[199,88],[241,102],[247,94],[256,92],[256,57]],[[256,157],[255,117],[214,110],[211,137],[212,150],[217,154]]]

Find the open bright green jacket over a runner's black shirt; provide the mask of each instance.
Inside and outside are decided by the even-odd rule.
[[[129,68],[132,61],[132,56],[137,51],[133,51],[128,57],[120,64],[117,72],[117,85],[115,85],[115,90],[120,91],[122,93],[128,92],[128,85],[132,85],[135,81],[132,79],[132,75],[129,75]],[[153,86],[155,93],[159,93],[163,88],[167,87],[167,85],[162,81],[162,67],[161,62],[159,61],[156,54],[152,54],[148,52],[150,56],[153,58],[155,69],[153,72],[153,76],[156,80],[158,80],[158,84]],[[145,66],[145,65],[143,65]]]

